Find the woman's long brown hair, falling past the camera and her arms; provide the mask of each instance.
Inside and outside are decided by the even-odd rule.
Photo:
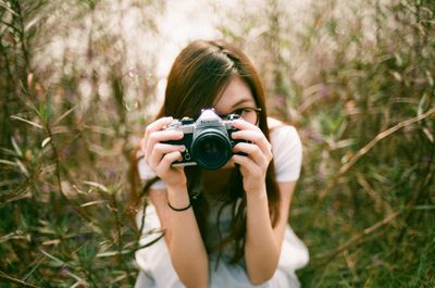
[[[259,127],[269,139],[266,107],[260,78],[247,55],[240,49],[223,40],[198,40],[183,49],[171,68],[164,103],[157,118],[163,116],[173,116],[174,118],[182,118],[183,116],[198,117],[201,109],[211,108],[215,103],[215,100],[234,76],[238,76],[248,85],[257,107],[261,108]],[[200,183],[200,168],[186,166],[185,173],[187,189],[192,195],[195,185]],[[151,181],[153,180],[156,179],[151,179]],[[229,236],[222,240],[220,252],[224,246],[235,242],[236,247],[232,262],[236,263],[244,255],[246,199],[241,185],[241,175],[237,168],[232,180],[234,180],[234,185],[232,185],[228,199],[233,203],[236,202],[235,200],[241,199],[241,204],[237,210],[233,210],[232,230]],[[269,165],[265,183],[271,222],[275,226],[279,217],[279,193],[275,181],[273,162]],[[145,187],[149,189],[150,183],[146,184]],[[192,205],[201,236],[204,239],[207,237],[206,218],[208,212],[206,200],[201,197],[196,198],[196,200],[192,200]]]

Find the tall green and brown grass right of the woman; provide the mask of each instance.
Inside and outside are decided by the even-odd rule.
[[[265,34],[282,43],[276,63],[291,63],[271,68],[270,88],[306,148],[290,223],[311,250],[309,287],[435,284],[434,12],[316,1],[296,32],[274,21]]]

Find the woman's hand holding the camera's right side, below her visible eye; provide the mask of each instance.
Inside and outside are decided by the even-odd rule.
[[[237,120],[233,126],[239,132],[232,134],[234,139],[244,139],[249,142],[237,143],[233,152],[247,155],[233,155],[233,161],[240,165],[244,177],[244,189],[247,193],[265,192],[265,175],[272,161],[272,145],[265,138],[263,132],[256,125],[244,120]]]

